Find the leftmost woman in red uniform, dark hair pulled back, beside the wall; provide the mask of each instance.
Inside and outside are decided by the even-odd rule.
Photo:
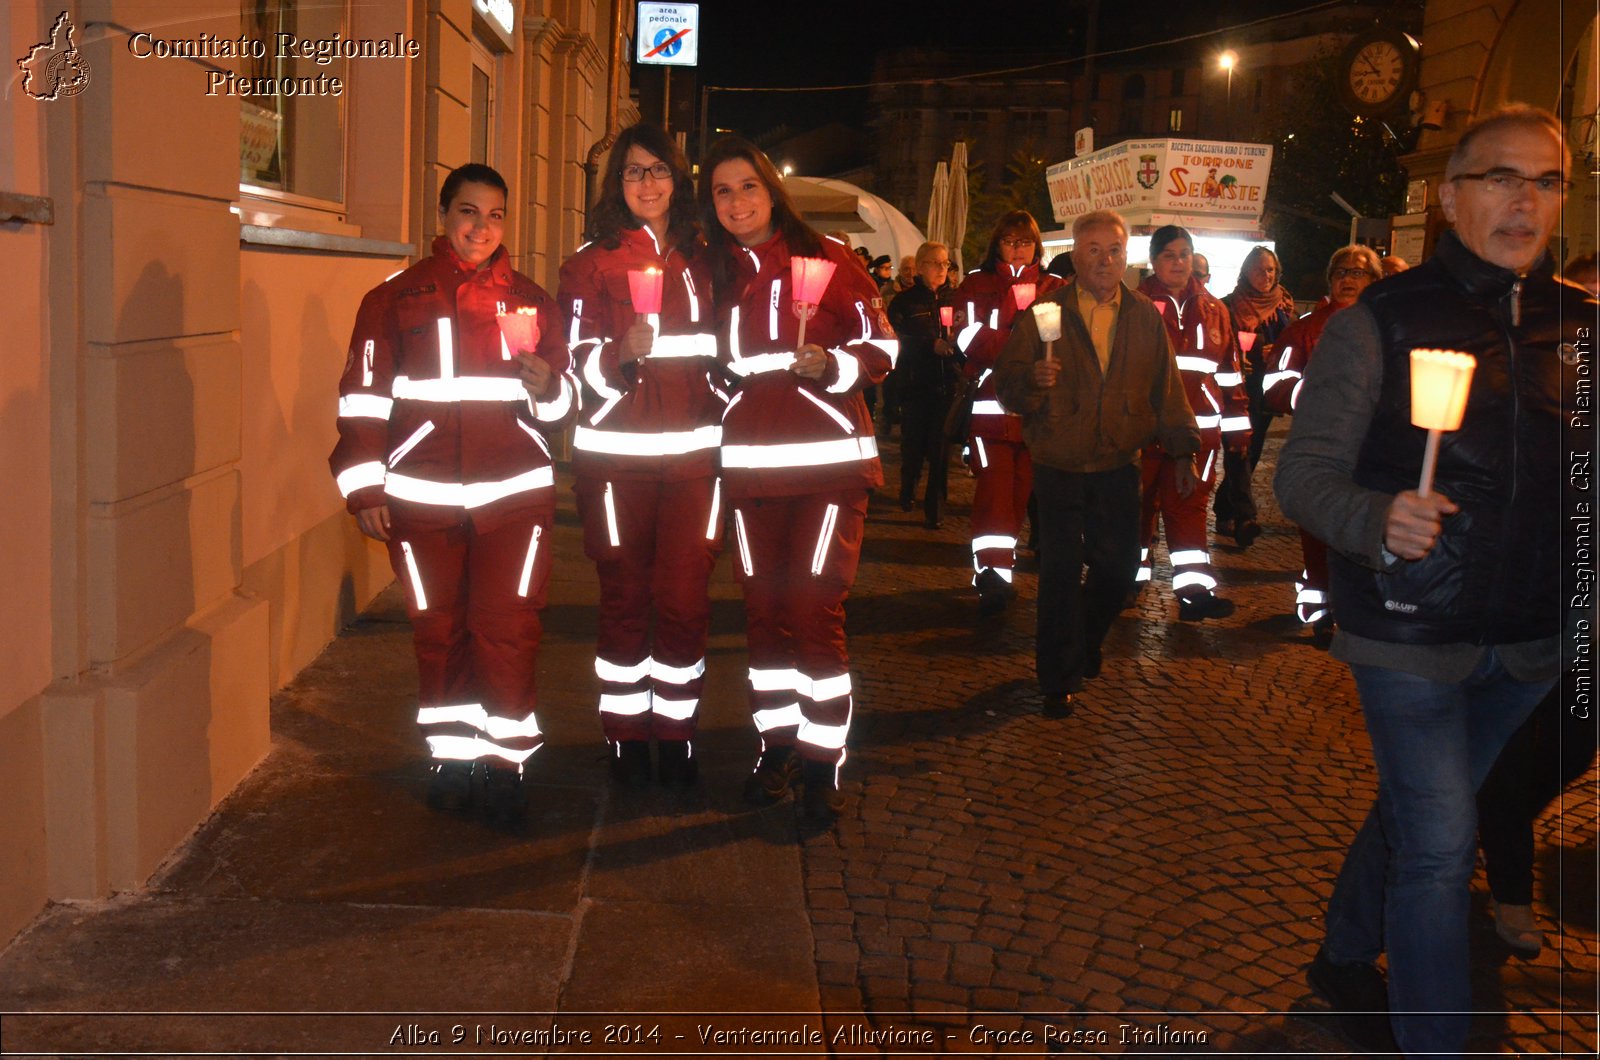
[[[438,223],[434,253],[362,299],[328,463],[406,591],[429,804],[517,818],[542,741],[534,660],[555,517],[544,436],[566,423],[578,384],[555,299],[501,247],[501,175],[454,170]],[[518,309],[538,312],[534,351],[501,338],[496,317]]]

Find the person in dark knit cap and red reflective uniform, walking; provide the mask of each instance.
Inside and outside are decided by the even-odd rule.
[[[1162,311],[1166,336],[1173,341],[1184,394],[1200,428],[1200,453],[1195,456],[1200,482],[1194,493],[1179,496],[1173,458],[1160,445],[1144,450],[1139,584],[1150,580],[1155,516],[1160,514],[1173,560],[1178,616],[1184,621],[1227,618],[1234,613],[1234,602],[1216,594],[1205,516],[1221,471],[1218,450],[1226,445],[1245,452],[1250,447],[1250,410],[1234,327],[1222,303],[1194,275],[1194,239],[1186,229],[1166,224],[1150,235],[1150,266],[1155,272],[1139,283],[1139,293]]]

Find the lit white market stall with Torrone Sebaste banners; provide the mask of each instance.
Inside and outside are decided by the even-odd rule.
[[[1211,263],[1210,290],[1234,290],[1251,247],[1272,247],[1261,231],[1272,144],[1197,139],[1125,139],[1058,162],[1045,171],[1050,207],[1062,227],[1045,234],[1045,256],[1072,247],[1072,219],[1115,210],[1128,223],[1128,269],[1149,266],[1150,232],[1181,224]],[[1136,280],[1131,275],[1130,280]]]

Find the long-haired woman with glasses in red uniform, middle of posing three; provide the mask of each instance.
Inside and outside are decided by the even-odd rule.
[[[621,783],[650,783],[654,740],[661,783],[683,786],[699,772],[691,738],[722,546],[726,399],[694,184],[666,133],[622,130],[592,218],[558,299],[590,391],[573,488],[600,575],[600,725]]]

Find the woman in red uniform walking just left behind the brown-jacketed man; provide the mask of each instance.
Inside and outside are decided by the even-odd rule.
[[[966,274],[957,304],[966,311],[966,327],[957,344],[966,354],[966,376],[976,381],[968,428],[970,460],[976,476],[973,493],[973,584],[978,610],[994,615],[1016,596],[1016,535],[1034,490],[1034,461],[1022,444],[1022,418],[1006,412],[992,381],[995,359],[1011,336],[1018,299],[1013,288],[1032,283],[1034,299],[1061,287],[1038,267],[1038,223],[1026,210],[1013,210],[995,224],[984,263]]]

